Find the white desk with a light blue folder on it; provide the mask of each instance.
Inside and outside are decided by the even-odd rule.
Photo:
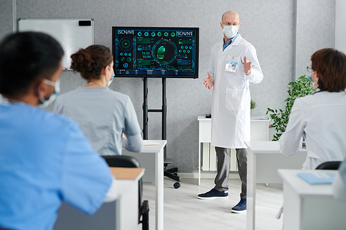
[[[311,185],[298,178],[302,172],[316,171],[278,170],[284,180],[284,229],[345,229],[346,202],[334,199],[331,184]]]

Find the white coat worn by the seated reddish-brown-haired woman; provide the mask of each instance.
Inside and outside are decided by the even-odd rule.
[[[346,158],[346,92],[318,91],[295,99],[286,131],[280,137],[280,151],[293,155],[307,145],[303,169],[316,169],[327,161]]]

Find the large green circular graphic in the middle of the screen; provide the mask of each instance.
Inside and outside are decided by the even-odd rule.
[[[177,49],[172,41],[162,39],[152,48],[152,56],[161,65],[170,64],[176,57]]]

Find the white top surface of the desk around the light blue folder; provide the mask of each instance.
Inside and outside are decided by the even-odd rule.
[[[302,178],[299,178],[297,173],[316,173],[317,170],[302,170],[302,169],[278,169],[284,183],[289,183],[300,197],[304,196],[333,196],[332,184],[308,184]],[[336,170],[318,170],[322,173],[335,174]]]

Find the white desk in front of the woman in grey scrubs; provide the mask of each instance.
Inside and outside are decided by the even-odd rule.
[[[140,153],[133,153],[122,149],[122,155],[136,157],[140,166],[145,168],[143,182],[155,182],[155,229],[163,230],[163,147],[167,140],[144,140],[144,147]],[[156,142],[157,145],[146,145]]]

